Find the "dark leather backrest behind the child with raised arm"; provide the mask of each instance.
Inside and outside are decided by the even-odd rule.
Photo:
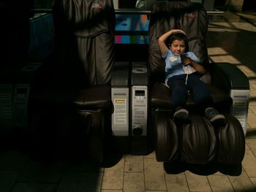
[[[154,82],[164,82],[165,61],[161,57],[157,39],[172,28],[186,32],[189,51],[200,59],[203,66],[208,67],[206,33],[208,18],[202,4],[192,2],[170,1],[154,4],[149,23],[148,67]]]

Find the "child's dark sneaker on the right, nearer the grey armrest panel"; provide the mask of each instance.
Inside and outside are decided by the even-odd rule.
[[[225,125],[225,116],[220,114],[212,107],[208,107],[205,111],[206,118],[214,125]]]

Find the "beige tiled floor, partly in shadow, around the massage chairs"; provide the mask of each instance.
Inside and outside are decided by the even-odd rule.
[[[256,15],[225,13],[208,28],[212,61],[227,61],[250,82],[246,153],[240,175],[165,172],[154,153],[124,155],[105,168],[90,161],[38,163],[17,150],[0,152],[0,192],[256,191]]]

